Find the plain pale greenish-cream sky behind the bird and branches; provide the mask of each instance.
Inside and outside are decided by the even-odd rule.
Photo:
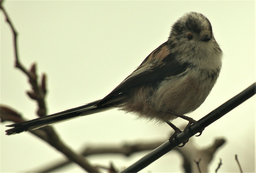
[[[256,81],[254,1],[5,1],[4,6],[19,32],[20,60],[26,67],[37,63],[38,74],[47,74],[48,114],[63,111],[107,95],[164,43],[170,26],[184,13],[201,12],[211,22],[214,37],[224,52],[220,77],[206,101],[193,113],[200,119]],[[28,98],[27,78],[14,69],[12,35],[1,12],[1,104],[9,105],[27,119],[36,118],[36,104]],[[194,137],[207,147],[216,137],[226,144],[216,153],[210,171],[255,172],[256,96]],[[176,125],[186,121],[176,119]],[[32,134],[6,136],[1,123],[0,171],[36,171],[62,154]],[[113,109],[54,125],[74,150],[86,144],[122,143],[164,139],[168,125],[137,120]],[[92,163],[120,169],[147,152],[129,158],[104,155],[89,157]],[[180,172],[180,155],[171,152],[141,172]],[[72,165],[61,172],[83,172]]]

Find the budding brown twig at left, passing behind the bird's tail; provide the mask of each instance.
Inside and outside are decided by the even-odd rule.
[[[46,76],[45,74],[42,76],[42,82],[39,85],[37,82],[37,75],[36,75],[36,66],[35,64],[32,65],[30,70],[26,70],[26,68],[21,64],[18,55],[18,32],[14,28],[10,17],[8,16],[4,6],[2,5],[2,0],[0,1],[0,9],[3,11],[6,22],[10,25],[13,34],[13,42],[14,42],[14,56],[15,56],[15,67],[20,69],[26,76],[29,78],[29,83],[32,86],[32,91],[28,92],[30,98],[34,99],[38,103],[38,111],[37,114],[42,117],[46,115],[46,104],[45,104],[45,94],[46,94]],[[6,117],[5,117],[6,118]],[[2,116],[1,116],[2,119]],[[7,118],[8,119],[8,118]],[[9,118],[10,119],[10,118]],[[21,120],[23,121],[23,120]],[[39,129],[38,129],[39,130]],[[88,172],[98,172],[98,169],[93,167],[82,155],[75,153],[70,149],[67,145],[65,145],[56,132],[54,131],[53,127],[46,126],[40,128],[41,132],[44,131],[44,135],[42,133],[38,133],[38,131],[30,131],[30,133],[40,137],[44,141],[48,142],[50,145],[55,147],[58,151],[63,153],[68,159],[80,165],[83,169]]]

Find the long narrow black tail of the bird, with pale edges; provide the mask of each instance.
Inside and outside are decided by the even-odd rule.
[[[84,116],[84,115],[90,115],[93,113],[98,113],[98,112],[106,111],[108,109],[113,108],[113,107],[110,107],[109,105],[96,106],[96,104],[99,101],[100,100],[93,101],[91,103],[82,105],[80,107],[75,107],[72,109],[68,109],[66,111],[54,113],[52,115],[39,117],[36,119],[32,119],[30,121],[24,121],[21,123],[6,125],[7,127],[13,127],[12,129],[6,130],[6,134],[12,135],[15,133],[21,133],[23,131],[38,129],[38,128],[46,126],[46,125],[52,125],[54,123],[59,123],[61,121],[66,121],[66,120],[69,120],[72,118],[76,118],[76,117],[80,117],[80,116]]]

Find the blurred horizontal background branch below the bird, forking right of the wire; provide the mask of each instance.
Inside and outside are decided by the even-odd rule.
[[[124,156],[130,156],[133,153],[137,153],[140,151],[148,151],[153,150],[156,147],[160,146],[162,143],[164,143],[165,139],[162,140],[150,140],[150,141],[140,141],[140,142],[129,142],[129,143],[123,143],[123,144],[91,144],[86,145],[84,149],[82,149],[81,154],[85,157],[91,156],[91,155],[102,155],[102,154],[121,154]],[[198,149],[193,143],[193,140],[190,140],[184,147],[176,147],[175,149],[182,155],[183,157],[183,167],[185,169],[185,172],[197,172],[196,167],[194,167],[193,160],[199,157],[202,158],[202,161],[200,163],[200,168],[202,172],[206,172],[208,170],[208,166],[210,164],[210,161],[212,161],[213,155],[215,154],[216,150],[224,144],[224,139],[216,139],[212,145],[210,145],[206,149]],[[193,152],[191,152],[193,151]],[[214,152],[212,152],[214,151]],[[210,160],[208,158],[211,158]],[[48,165],[47,169],[43,169],[39,172],[53,172],[56,171],[56,169],[59,169],[64,166],[68,166],[71,161],[51,161],[53,163],[52,165]]]

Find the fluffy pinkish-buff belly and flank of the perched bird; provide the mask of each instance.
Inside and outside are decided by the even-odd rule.
[[[163,80],[158,87],[135,89],[120,107],[138,117],[169,121],[176,116],[168,111],[186,114],[196,110],[209,95],[217,77],[210,78],[202,71],[189,70],[189,73]]]

